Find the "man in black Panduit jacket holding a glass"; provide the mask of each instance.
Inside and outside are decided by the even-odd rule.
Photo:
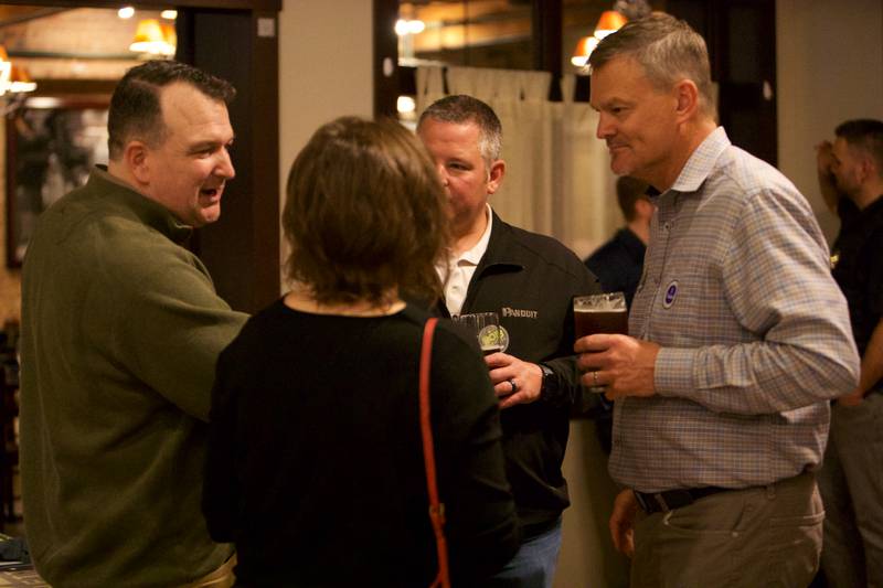
[[[573,355],[573,297],[599,292],[595,277],[557,240],[506,224],[488,197],[506,173],[502,129],[470,96],[448,96],[421,116],[417,135],[448,193],[451,257],[438,270],[443,314],[497,312],[502,351],[486,357],[500,397],[507,475],[522,545],[490,586],[552,586],[567,483],[561,472],[568,413],[581,394]]]

